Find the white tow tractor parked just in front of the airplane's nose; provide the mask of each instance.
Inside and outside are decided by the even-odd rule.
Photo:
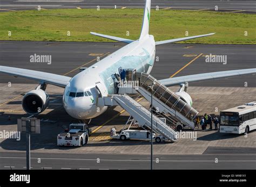
[[[89,140],[90,129],[86,124],[70,124],[70,129],[58,134],[58,146],[83,146]]]

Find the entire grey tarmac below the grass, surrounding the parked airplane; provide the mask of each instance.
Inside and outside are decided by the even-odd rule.
[[[93,42],[0,42],[0,64],[73,76],[79,67],[88,67],[97,56],[106,56],[123,44]],[[185,45],[170,44],[157,47],[159,61],[152,75],[158,79],[242,68],[255,68],[254,45]],[[33,54],[52,55],[52,63],[31,63]],[[203,53],[227,55],[227,64],[206,63]],[[102,58],[101,57],[101,58]],[[193,62],[191,62],[193,61]],[[22,109],[22,96],[35,89],[35,82],[0,74],[0,131],[17,131],[17,119],[29,117]],[[11,82],[9,87],[8,83]],[[245,87],[245,82],[248,86]],[[255,75],[191,83],[187,92],[199,114],[212,116],[219,111],[256,100]],[[179,86],[170,87],[178,90]],[[121,107],[110,107],[92,119],[92,136],[83,147],[58,147],[57,134],[78,120],[66,114],[62,106],[63,88],[48,85],[50,104],[41,114],[41,134],[31,134],[31,169],[149,169],[150,142],[111,139],[110,129],[121,130],[129,113]],[[140,103],[147,109],[150,104]],[[184,130],[190,132],[190,130]],[[196,128],[196,141],[178,139],[176,142],[154,143],[154,169],[256,169],[256,131],[244,134],[224,134]],[[0,139],[0,169],[25,169],[25,135],[21,141]],[[42,158],[41,164],[36,160]],[[97,163],[100,159],[100,163]],[[218,159],[218,163],[215,163]]]

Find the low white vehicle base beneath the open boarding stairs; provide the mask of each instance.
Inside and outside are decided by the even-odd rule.
[[[165,137],[161,135],[156,135],[155,133],[152,134],[153,139],[156,142],[161,142],[165,141]],[[111,128],[110,131],[110,137],[111,138],[116,138],[120,140],[126,140],[126,139],[131,139],[131,140],[151,140],[151,133],[146,130],[122,130],[119,134],[116,133],[116,128]]]

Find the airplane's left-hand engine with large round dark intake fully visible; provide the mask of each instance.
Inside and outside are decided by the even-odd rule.
[[[31,90],[23,97],[22,107],[26,113],[39,114],[46,109],[49,100],[49,95],[44,90]]]

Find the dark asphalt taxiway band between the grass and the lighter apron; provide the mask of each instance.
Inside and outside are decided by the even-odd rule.
[[[1,66],[40,70],[72,77],[79,72],[79,67],[89,67],[96,63],[97,56],[103,59],[123,46],[124,44],[119,42],[1,41],[0,64]],[[186,68],[179,71],[174,77],[214,71],[256,68],[255,52],[256,45],[161,45],[156,48],[158,61],[154,62],[151,74],[160,80],[169,78],[185,66]],[[51,55],[51,64],[31,63],[30,55],[35,54]],[[201,56],[196,59],[200,54]],[[206,55],[210,54],[226,55],[226,64],[206,62]],[[24,78],[0,74],[0,83],[8,84],[8,82],[35,83]],[[242,75],[191,83],[190,85],[204,87],[256,87],[256,77],[255,75]]]

